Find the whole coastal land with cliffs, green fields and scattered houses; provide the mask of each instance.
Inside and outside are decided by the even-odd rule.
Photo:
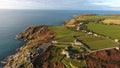
[[[61,26],[30,26],[4,68],[119,68],[120,15],[79,14]]]

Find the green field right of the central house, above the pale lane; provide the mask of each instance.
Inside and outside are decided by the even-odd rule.
[[[92,35],[80,36],[80,39],[85,42],[90,49],[102,49],[113,47],[116,43],[110,39],[103,37],[95,37]]]

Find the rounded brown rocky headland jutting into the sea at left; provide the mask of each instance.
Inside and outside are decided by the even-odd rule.
[[[47,26],[31,26],[17,35],[18,39],[22,39],[24,41],[36,39],[39,41],[50,41],[54,37],[54,32],[50,31]]]

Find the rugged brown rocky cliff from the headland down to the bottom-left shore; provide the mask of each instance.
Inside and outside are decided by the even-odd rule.
[[[33,26],[27,28],[17,36],[18,39],[26,41],[26,44],[19,49],[17,54],[8,59],[4,68],[34,68],[34,60],[41,55],[43,51],[41,51],[40,48],[47,50],[51,45],[49,42],[54,39],[54,37],[55,33],[50,31],[47,26]],[[44,47],[42,45],[43,43],[48,44],[44,44],[46,46]],[[46,56],[49,55],[49,53],[45,52],[45,54],[42,55]],[[42,68],[42,66],[39,68]]]

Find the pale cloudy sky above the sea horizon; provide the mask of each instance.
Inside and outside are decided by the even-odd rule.
[[[119,0],[0,0],[0,9],[120,10]]]

